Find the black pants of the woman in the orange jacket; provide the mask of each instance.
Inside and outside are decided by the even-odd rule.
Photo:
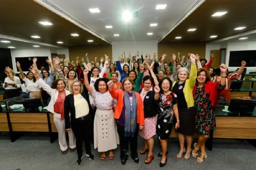
[[[118,124],[116,124],[116,126],[117,126],[117,132],[120,138],[121,159],[127,160],[128,153],[129,153],[129,143],[130,143],[132,159],[138,158],[137,148],[138,148],[139,125],[137,125],[136,132],[133,137],[124,137],[124,127]]]

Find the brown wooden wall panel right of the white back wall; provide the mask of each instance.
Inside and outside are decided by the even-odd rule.
[[[172,53],[178,55],[178,52],[180,53],[180,59],[182,55],[187,56],[188,53],[198,53],[200,58],[205,58],[205,43],[159,43],[157,50],[158,59],[162,57],[163,53],[167,53],[170,60]]]

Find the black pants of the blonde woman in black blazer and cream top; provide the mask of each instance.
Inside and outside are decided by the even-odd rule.
[[[91,135],[92,129],[92,117],[86,115],[84,120],[76,119],[75,124],[72,125],[72,131],[76,137],[76,149],[78,157],[83,155],[83,143],[85,146],[86,153],[91,153]]]

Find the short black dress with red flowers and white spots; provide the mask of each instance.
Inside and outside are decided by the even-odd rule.
[[[158,116],[157,116],[157,135],[159,139],[168,139],[173,126],[173,104],[177,104],[177,95],[173,92],[165,96],[160,94],[160,99],[158,101]]]

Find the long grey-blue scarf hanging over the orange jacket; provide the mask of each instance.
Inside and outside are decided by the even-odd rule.
[[[137,126],[137,99],[134,91],[132,91],[132,106],[130,103],[129,94],[124,91],[125,104],[125,122],[124,122],[124,136],[133,137]]]

